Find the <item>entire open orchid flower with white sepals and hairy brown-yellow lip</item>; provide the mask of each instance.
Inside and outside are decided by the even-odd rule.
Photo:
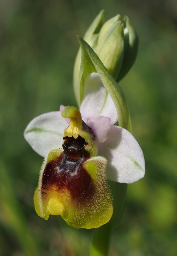
[[[61,215],[76,228],[97,228],[110,220],[106,178],[132,183],[145,173],[142,150],[130,132],[114,125],[118,119],[98,73],[91,73],[80,111],[61,106],[28,124],[25,139],[45,157],[34,196],[39,216]]]

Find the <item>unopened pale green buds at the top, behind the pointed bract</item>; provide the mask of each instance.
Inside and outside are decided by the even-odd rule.
[[[135,62],[138,37],[127,16],[123,22],[121,22],[118,14],[104,23],[104,12],[101,11],[88,28],[83,39],[91,46],[117,82],[127,74]],[[79,105],[82,95],[79,84],[80,69],[82,69],[81,48],[76,56],[73,74],[74,92]],[[96,72],[96,70],[92,72]]]

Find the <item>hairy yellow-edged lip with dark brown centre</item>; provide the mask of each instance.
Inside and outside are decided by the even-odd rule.
[[[72,122],[77,123],[72,120],[70,126]],[[107,160],[93,156],[95,137],[85,123],[78,134],[70,126],[65,129],[63,148],[51,150],[44,160],[34,196],[35,210],[45,220],[50,214],[61,215],[75,228],[97,228],[112,217]]]

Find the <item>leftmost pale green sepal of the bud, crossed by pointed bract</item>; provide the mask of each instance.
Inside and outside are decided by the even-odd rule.
[[[102,10],[94,19],[94,21],[89,26],[88,30],[84,35],[84,40],[87,41],[91,47],[97,43],[98,40],[98,33],[101,27],[104,24],[104,10]],[[73,86],[74,86],[74,93],[76,96],[76,100],[78,105],[80,105],[80,84],[79,81],[79,72],[80,72],[80,65],[81,65],[81,47],[77,53],[75,63],[74,63],[74,70],[73,70]]]

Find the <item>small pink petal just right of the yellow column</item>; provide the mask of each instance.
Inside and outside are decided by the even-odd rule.
[[[89,119],[87,125],[91,128],[92,133],[96,136],[96,139],[100,142],[104,142],[107,139],[110,123],[111,118],[100,116],[98,118]]]

